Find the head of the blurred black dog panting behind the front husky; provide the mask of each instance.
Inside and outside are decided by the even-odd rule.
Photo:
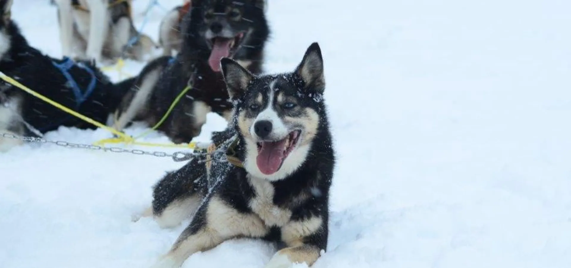
[[[187,53],[205,51],[208,65],[220,71],[222,58],[246,58],[248,50],[263,49],[269,29],[265,0],[193,0],[182,33]],[[190,51],[192,50],[192,51]]]

